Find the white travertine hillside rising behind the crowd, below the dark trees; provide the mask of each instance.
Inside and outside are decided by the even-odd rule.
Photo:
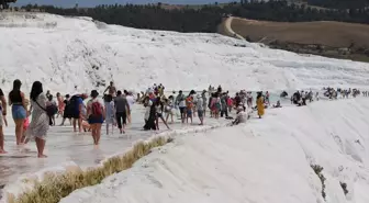
[[[24,89],[41,80],[62,92],[74,91],[75,86],[83,91],[103,89],[110,80],[136,91],[153,83],[177,90],[222,83],[234,91],[243,87],[369,87],[367,64],[304,57],[219,34],[136,30],[89,18],[15,13],[3,16],[0,35],[3,90],[15,78],[24,81]]]

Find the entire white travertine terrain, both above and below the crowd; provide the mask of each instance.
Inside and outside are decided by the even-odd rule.
[[[101,92],[111,80],[121,90],[144,91],[163,83],[167,91],[201,91],[209,84],[221,84],[231,93],[264,90],[271,97],[281,90],[321,90],[327,86],[369,90],[369,64],[299,55],[215,33],[138,30],[87,16],[47,13],[0,13],[0,81],[4,92],[11,90],[14,79],[22,80],[26,93],[35,80],[42,81],[45,90],[62,93],[75,92],[75,86],[80,91]],[[198,126],[198,117],[193,125],[175,117],[171,129],[143,133],[145,109],[135,104],[127,136],[118,131],[103,134],[101,148],[93,148],[90,133],[74,134],[70,126],[53,126],[46,144],[53,151],[47,154],[49,158],[37,159],[30,143],[32,150],[24,148],[24,153],[34,157],[1,159],[8,177],[31,171],[24,174],[26,181],[19,179],[0,188],[5,194],[37,188],[34,194],[42,200],[30,195],[23,203],[54,203],[62,196],[62,203],[367,203],[367,98],[327,101],[322,97],[301,108],[287,99],[282,105],[267,109],[262,119],[254,112],[246,125],[225,127],[228,120],[211,119],[208,113],[204,126]],[[4,127],[5,146],[14,151],[20,148],[10,123]],[[101,162],[149,136],[172,139],[159,148],[150,147],[161,144],[141,143],[137,154],[126,156],[130,165],[118,165],[126,169],[141,159],[122,172],[116,172],[121,170],[115,170],[115,163]],[[77,169],[87,162],[107,168],[91,170],[89,174],[98,178],[86,176],[87,184],[80,184],[82,177],[77,173],[68,179],[69,185],[55,184],[55,179],[48,179],[54,187],[47,190],[45,184],[32,185],[33,180],[72,171],[68,166]],[[316,166],[323,171],[316,172]],[[35,168],[42,170],[34,172]],[[325,177],[323,184],[315,172]],[[347,194],[340,182],[346,184]],[[75,189],[70,185],[91,187],[66,196]],[[53,196],[46,198],[47,191],[57,195],[52,192]]]

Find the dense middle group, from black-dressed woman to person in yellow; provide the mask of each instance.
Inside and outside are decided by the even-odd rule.
[[[269,93],[267,92],[267,100],[269,100],[268,97]],[[235,123],[242,123],[246,121],[246,117],[250,113],[247,110],[253,109],[253,97],[250,92],[243,90],[232,98],[228,91],[222,90],[221,86],[219,86],[216,90],[210,87],[209,91],[203,90],[201,93],[191,90],[189,94],[185,94],[180,90],[176,95],[174,91],[172,94],[167,98],[163,91],[157,91],[154,84],[154,87],[147,89],[146,93],[142,92],[139,98],[138,102],[143,103],[146,109],[144,117],[144,129],[146,131],[159,129],[160,120],[169,129],[168,119],[170,116],[171,123],[174,123],[174,115],[179,115],[181,123],[191,124],[193,117],[198,116],[200,120],[199,125],[203,125],[208,109],[210,117],[219,119],[224,116],[228,120],[233,120],[232,116],[228,116],[228,113],[236,110],[237,117],[235,119]],[[260,119],[264,115],[264,104],[265,97],[262,92],[258,92],[256,109],[258,110]]]

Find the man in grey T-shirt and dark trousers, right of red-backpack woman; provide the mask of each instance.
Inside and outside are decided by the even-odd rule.
[[[126,125],[127,111],[131,111],[131,106],[126,98],[122,94],[122,91],[118,91],[116,98],[114,98],[115,103],[115,117],[120,133],[125,133],[124,128]]]

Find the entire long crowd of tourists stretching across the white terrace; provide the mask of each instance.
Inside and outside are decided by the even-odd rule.
[[[170,129],[170,124],[175,119],[179,119],[182,124],[193,124],[198,117],[198,125],[204,125],[205,117],[219,120],[224,117],[231,120],[230,125],[245,123],[255,111],[259,119],[265,114],[267,108],[282,108],[278,100],[276,104],[270,103],[268,91],[259,91],[254,101],[253,93],[246,90],[231,94],[223,90],[221,86],[209,87],[208,90],[195,92],[172,91],[167,97],[165,87],[154,83],[145,92],[137,93],[126,90],[118,90],[114,82],[110,82],[103,94],[99,97],[98,90],[92,90],[90,94],[76,92],[63,97],[59,92],[54,94],[48,90],[44,93],[43,84],[35,81],[32,84],[30,100],[21,90],[22,82],[13,81],[13,88],[9,92],[8,99],[0,89],[0,154],[5,154],[3,126],[8,126],[8,105],[15,123],[15,144],[24,145],[30,140],[35,140],[40,158],[46,157],[44,148],[49,126],[56,125],[56,119],[63,117],[59,125],[65,125],[66,121],[72,125],[74,132],[90,132],[93,144],[99,145],[102,124],[105,123],[107,135],[113,134],[118,128],[120,134],[125,134],[126,125],[132,123],[133,105],[143,105],[143,131],[157,131],[163,123]],[[359,90],[342,90],[326,88],[324,95],[329,99],[337,99],[337,95],[347,98],[357,97]],[[364,91],[362,95],[368,97]],[[280,98],[287,98],[283,91]],[[89,101],[85,102],[88,98]],[[306,101],[318,100],[318,92],[297,91],[291,97],[291,103],[299,106],[306,105]],[[255,103],[254,103],[255,102]],[[233,117],[234,115],[235,117]],[[30,120],[31,117],[31,120]],[[170,120],[169,120],[170,119]]]

